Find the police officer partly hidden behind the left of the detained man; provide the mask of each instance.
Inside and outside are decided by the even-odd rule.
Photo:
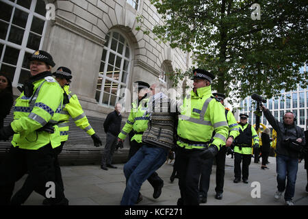
[[[142,133],[148,129],[149,114],[145,114],[147,105],[149,104],[150,92],[149,83],[144,81],[136,81],[138,84],[138,100],[133,101],[131,104],[131,113],[125,123],[123,129],[118,134],[118,141],[123,141],[127,135],[133,130],[131,138],[131,148],[129,149],[129,159],[140,149],[142,146]],[[157,172],[148,178],[149,183],[153,186],[153,198],[158,198],[162,194],[164,181],[157,175]],[[136,203],[142,201],[142,195],[139,193]]]

